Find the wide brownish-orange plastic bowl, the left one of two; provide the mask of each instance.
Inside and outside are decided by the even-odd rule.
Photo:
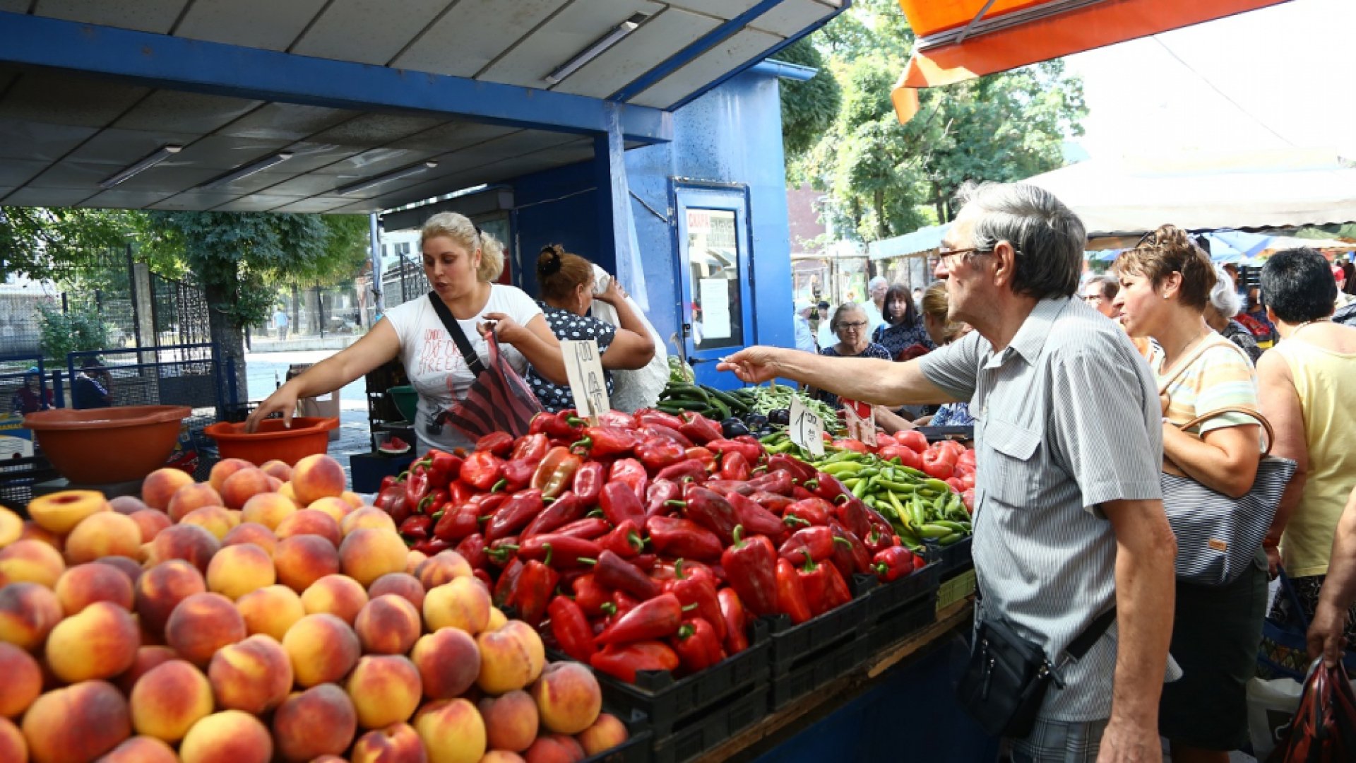
[[[52,466],[79,485],[141,479],[164,466],[188,406],[53,409],[30,413],[33,429]]]

